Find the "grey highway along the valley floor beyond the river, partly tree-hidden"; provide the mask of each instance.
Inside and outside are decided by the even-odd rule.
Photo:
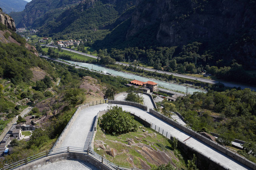
[[[44,46],[44,45],[42,45]],[[47,47],[52,47],[52,48],[57,48],[57,46],[53,46],[53,45],[46,45]],[[73,49],[68,49],[68,48],[61,48],[63,50],[67,50],[73,53],[77,53],[77,54],[81,54],[84,56],[88,56],[88,57],[92,57],[92,58],[97,58],[96,56],[90,55],[90,54],[86,54],[86,53],[82,53],[82,52],[78,52],[76,50]],[[122,63],[122,62],[116,62],[119,65],[124,65],[124,66],[129,66],[129,64],[126,63]],[[186,79],[191,79],[191,80],[197,80],[199,82],[205,82],[205,83],[209,83],[209,84],[217,84],[217,83],[222,83],[224,84],[226,87],[241,87],[242,89],[244,88],[250,88],[251,90],[256,91],[256,87],[255,86],[247,86],[247,85],[243,85],[243,84],[239,84],[239,83],[231,83],[231,82],[225,82],[223,80],[209,80],[209,79],[204,79],[204,78],[196,78],[195,76],[189,76],[189,75],[183,75],[183,74],[177,74],[177,73],[171,73],[171,72],[167,72],[167,71],[159,71],[159,70],[155,70],[155,69],[148,69],[146,67],[141,67],[141,66],[135,66],[139,69],[144,69],[146,71],[152,71],[152,72],[157,72],[157,73],[162,73],[162,74],[167,74],[167,75],[175,75],[177,77],[180,78],[186,78]]]

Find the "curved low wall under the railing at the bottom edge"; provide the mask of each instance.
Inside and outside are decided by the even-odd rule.
[[[88,154],[81,154],[81,153],[75,153],[75,152],[65,152],[63,154],[47,156],[45,158],[36,160],[35,162],[29,163],[27,165],[23,165],[22,167],[18,167],[16,169],[19,169],[19,170],[36,169],[36,168],[42,167],[43,165],[59,162],[61,160],[82,160],[84,162],[94,165],[98,169],[102,169],[102,170],[112,169],[110,167],[107,167],[105,164],[98,162],[98,160],[94,159],[92,156]]]

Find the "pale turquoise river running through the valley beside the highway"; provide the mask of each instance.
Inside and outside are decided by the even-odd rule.
[[[94,64],[90,64],[90,63],[67,61],[67,60],[64,60],[64,59],[63,59],[63,61],[68,62],[68,63],[72,63],[73,65],[77,65],[77,66],[80,66],[80,67],[88,68],[89,70],[96,70],[96,71],[99,71],[99,72],[102,72],[102,73],[109,73],[109,74],[112,74],[112,75],[115,75],[115,76],[121,76],[121,77],[127,78],[127,79],[136,79],[136,80],[139,80],[139,81],[142,81],[142,82],[154,81],[154,82],[158,83],[159,87],[166,88],[166,89],[172,90],[172,91],[186,92],[186,87],[182,86],[182,85],[179,85],[179,84],[167,83],[167,82],[163,82],[163,81],[155,80],[155,79],[152,80],[152,79],[144,78],[142,76],[138,76],[138,75],[134,75],[134,74],[127,74],[127,73],[123,73],[121,71],[115,71],[115,70],[112,70],[112,69],[107,69],[106,67],[102,67],[102,66],[94,65]],[[205,92],[205,91],[188,87],[188,93],[189,94],[193,94],[194,92]]]

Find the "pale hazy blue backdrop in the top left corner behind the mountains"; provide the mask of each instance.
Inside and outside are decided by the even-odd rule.
[[[28,2],[24,0],[1,0],[0,7],[3,12],[9,14],[10,12],[23,11],[27,3]]]

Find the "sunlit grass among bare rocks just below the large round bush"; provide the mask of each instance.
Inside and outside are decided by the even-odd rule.
[[[126,167],[132,167],[132,165],[127,162],[127,159],[129,159],[129,156],[131,156],[131,158],[133,158],[133,163],[138,168],[142,168],[139,158],[151,167],[153,166],[150,162],[148,162],[146,158],[144,158],[143,155],[140,154],[139,151],[141,151],[142,148],[138,147],[139,143],[143,143],[144,145],[151,147],[152,150],[155,151],[164,150],[169,155],[172,155],[171,157],[174,156],[174,152],[171,150],[171,144],[170,142],[168,142],[168,139],[166,137],[157,133],[151,128],[145,128],[142,124],[139,124],[139,127],[141,128],[139,128],[136,132],[129,132],[118,136],[113,136],[109,134],[104,134],[100,127],[97,126],[97,133],[94,141],[102,141],[106,143],[105,146],[108,146],[109,148],[115,148],[118,154],[114,158],[106,154],[105,150],[100,149],[98,151],[97,147],[94,147],[94,151],[96,151],[97,154],[100,154],[101,156],[105,156],[105,158],[108,159],[110,162]],[[135,145],[128,145],[127,138],[133,139]],[[175,158],[175,160],[176,162],[178,162],[177,167],[185,167],[184,160],[182,160],[181,162],[178,158]]]

